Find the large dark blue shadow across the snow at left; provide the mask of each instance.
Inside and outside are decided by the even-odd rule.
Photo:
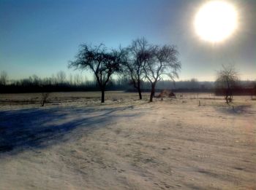
[[[64,136],[78,127],[92,130],[99,127],[99,124],[105,126],[120,116],[138,116],[138,113],[121,112],[132,108],[125,106],[97,110],[70,107],[0,111],[0,154],[14,149],[22,151],[43,148],[64,141]],[[68,136],[67,139],[69,138],[71,137]]]

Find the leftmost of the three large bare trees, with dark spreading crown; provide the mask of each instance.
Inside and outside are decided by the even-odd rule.
[[[94,47],[82,44],[75,60],[69,62],[69,68],[92,71],[102,92],[101,100],[104,103],[105,87],[110,80],[110,76],[121,71],[122,55],[121,50],[108,51],[104,44]]]

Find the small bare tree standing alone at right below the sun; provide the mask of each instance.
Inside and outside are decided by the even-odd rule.
[[[238,72],[233,65],[222,66],[222,68],[217,73],[216,86],[225,93],[226,103],[229,103],[233,100],[233,88],[238,82]]]

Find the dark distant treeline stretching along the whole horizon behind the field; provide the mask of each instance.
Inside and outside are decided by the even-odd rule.
[[[68,79],[67,79],[68,78]],[[255,94],[255,82],[241,81],[238,87],[234,89],[234,95],[252,95]],[[198,82],[197,79],[173,82],[170,80],[157,83],[156,92],[163,89],[173,92],[215,92],[217,95],[223,95],[222,89],[215,89],[214,82]],[[63,71],[52,77],[40,79],[33,75],[28,79],[8,80],[7,74],[1,74],[0,92],[1,93],[23,93],[23,92],[72,92],[72,91],[98,91],[96,81],[90,81],[81,75],[70,75],[69,77]],[[137,92],[132,86],[132,82],[126,77],[111,79],[106,90],[124,90],[126,92]],[[143,82],[142,91],[150,92],[151,86],[148,82]]]

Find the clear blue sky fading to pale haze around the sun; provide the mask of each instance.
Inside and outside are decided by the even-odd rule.
[[[222,64],[235,65],[241,79],[256,79],[256,1],[229,1],[238,11],[238,30],[218,44],[201,40],[193,27],[205,2],[0,0],[0,71],[11,79],[72,73],[67,63],[79,44],[125,47],[145,36],[153,44],[177,45],[180,79],[214,81]]]

